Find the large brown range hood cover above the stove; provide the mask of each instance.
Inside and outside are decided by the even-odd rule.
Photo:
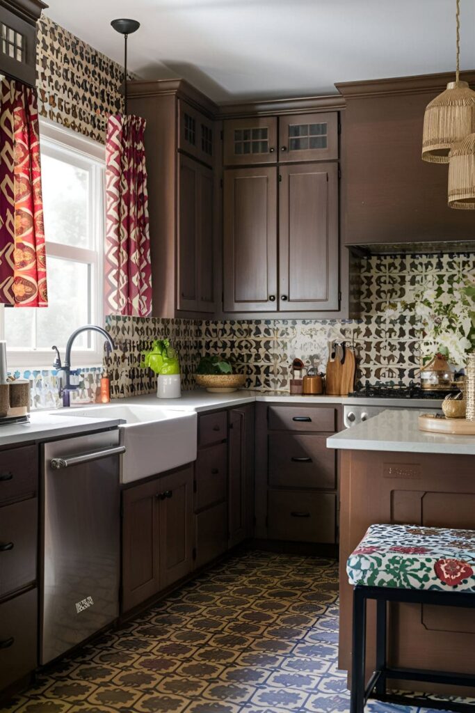
[[[474,88],[473,71],[460,78]],[[424,245],[440,250],[444,243],[463,246],[475,239],[471,211],[447,205],[447,165],[421,159],[425,108],[453,79],[448,73],[336,85],[346,103],[345,245],[394,252],[412,243],[424,252]]]

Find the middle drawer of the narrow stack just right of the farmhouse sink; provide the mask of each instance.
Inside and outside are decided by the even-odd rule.
[[[195,511],[226,500],[227,452],[226,443],[198,451]]]

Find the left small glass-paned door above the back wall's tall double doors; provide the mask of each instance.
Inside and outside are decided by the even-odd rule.
[[[235,153],[234,132],[249,131],[253,129],[267,130],[267,148],[265,153]],[[247,119],[229,119],[223,122],[224,130],[224,165],[256,165],[257,163],[276,163],[277,151],[277,119],[276,117],[259,118],[257,116]],[[251,140],[249,139],[249,143]],[[258,147],[259,148],[259,147]]]

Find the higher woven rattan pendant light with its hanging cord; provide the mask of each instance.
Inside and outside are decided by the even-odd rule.
[[[422,133],[422,160],[449,163],[449,151],[457,141],[472,132],[475,92],[460,81],[460,0],[456,0],[456,74],[455,81],[433,99],[426,108]]]

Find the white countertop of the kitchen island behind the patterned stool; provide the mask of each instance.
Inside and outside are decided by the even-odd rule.
[[[362,424],[327,438],[328,448],[350,451],[403,451],[407,453],[447,453],[475,455],[475,436],[449,436],[419,431],[418,416],[412,409],[382,411]]]

